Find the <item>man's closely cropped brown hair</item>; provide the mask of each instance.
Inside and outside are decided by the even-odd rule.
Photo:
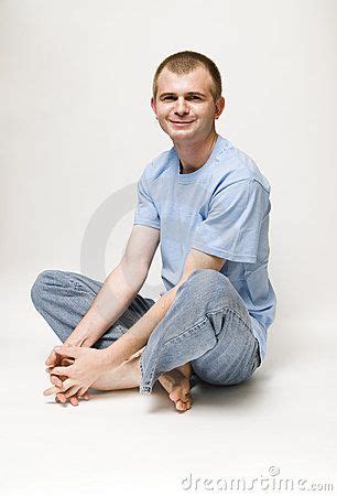
[[[164,67],[175,74],[188,74],[196,67],[204,66],[210,74],[214,83],[214,88],[210,89],[214,100],[216,101],[222,93],[221,76],[216,64],[206,55],[197,52],[184,51],[177,52],[166,57],[155,71],[153,77],[152,93],[153,98],[156,98],[157,78]]]

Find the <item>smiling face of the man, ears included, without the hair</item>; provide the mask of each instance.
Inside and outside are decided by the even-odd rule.
[[[174,74],[166,67],[157,78],[156,99],[151,106],[161,128],[173,141],[198,142],[209,136],[225,107],[224,97],[214,101],[208,71],[196,67],[188,74]]]

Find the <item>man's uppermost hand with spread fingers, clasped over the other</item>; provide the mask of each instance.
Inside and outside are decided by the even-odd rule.
[[[54,351],[61,359],[75,358],[73,365],[51,367],[51,374],[66,376],[63,386],[54,386],[44,391],[45,396],[63,392],[66,398],[83,396],[98,377],[107,371],[108,363],[102,349],[75,346],[58,346]]]

